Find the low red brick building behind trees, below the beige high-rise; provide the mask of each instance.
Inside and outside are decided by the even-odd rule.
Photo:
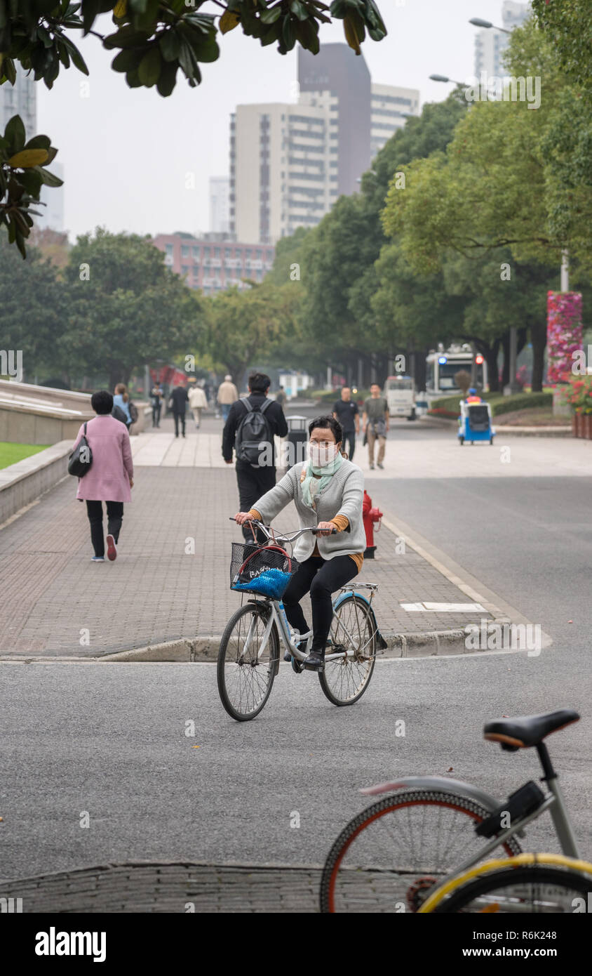
[[[270,244],[239,244],[224,234],[193,234],[177,231],[156,234],[152,243],[165,253],[165,263],[182,275],[190,288],[201,288],[205,295],[238,285],[248,287],[242,278],[262,281],[273,265],[275,248]]]

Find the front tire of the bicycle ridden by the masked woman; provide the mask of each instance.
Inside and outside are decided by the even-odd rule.
[[[227,660],[227,651],[229,648],[230,639],[232,637],[233,631],[235,630],[237,624],[240,623],[243,617],[250,615],[252,617],[258,618],[261,622],[262,628],[264,629],[267,624],[270,612],[271,611],[268,607],[262,606],[259,603],[255,603],[255,602],[246,603],[245,606],[239,607],[236,613],[232,614],[232,617],[226,624],[224,632],[222,633],[222,636],[220,638],[220,644],[217,652],[217,690],[220,696],[220,701],[224,709],[237,722],[251,721],[253,718],[255,718],[258,715],[261,709],[265,706],[267,699],[271,694],[273,681],[276,672],[279,668],[280,642],[279,642],[277,628],[274,624],[269,634],[269,641],[267,644],[268,658],[266,659],[266,661],[261,662],[261,677],[264,677],[265,686],[264,688],[261,689],[261,686],[258,685],[258,688],[261,689],[261,694],[257,702],[254,704],[253,708],[249,709],[248,711],[239,711],[239,709],[236,708],[235,705],[233,704],[232,701],[233,696],[229,691],[228,683],[226,681],[226,666],[233,663],[231,660]],[[240,636],[238,639],[240,642]],[[236,653],[236,651],[234,653]],[[239,653],[239,657],[240,656],[241,655]],[[257,661],[258,661],[258,657],[257,657]],[[235,663],[239,664],[238,661],[236,661]],[[241,662],[240,664],[241,667],[239,668],[239,672],[238,672],[239,680],[242,680],[242,678],[240,677],[240,671],[242,670],[242,668],[251,667],[252,669],[254,669],[254,671],[252,671],[252,677],[253,677],[256,674],[255,669],[259,667],[258,664],[254,663],[253,657],[249,661]],[[257,677],[257,681],[258,681],[258,677]],[[244,684],[248,684],[248,683],[249,683],[249,678],[246,678]],[[252,685],[253,685],[253,681],[252,681]],[[239,696],[239,702],[241,700],[241,697],[242,696]]]

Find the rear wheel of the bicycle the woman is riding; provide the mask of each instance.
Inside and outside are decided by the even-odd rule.
[[[329,634],[335,651],[353,651],[353,657],[327,661],[319,674],[324,694],[334,705],[353,705],[362,697],[375,670],[375,617],[359,596],[347,596],[334,611]]]

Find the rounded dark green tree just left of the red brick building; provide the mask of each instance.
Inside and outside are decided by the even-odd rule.
[[[203,327],[199,297],[137,234],[103,227],[83,234],[64,277],[68,325],[60,353],[70,368],[108,373],[111,388],[127,384],[139,366],[184,352]]]

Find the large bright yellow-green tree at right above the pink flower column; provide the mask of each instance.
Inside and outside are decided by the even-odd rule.
[[[539,107],[475,102],[446,153],[406,167],[404,193],[391,183],[384,229],[401,236],[418,270],[434,270],[449,248],[468,255],[509,247],[517,261],[549,265],[560,264],[569,248],[576,263],[589,263],[592,194],[588,185],[573,183],[592,150],[589,139],[584,144],[577,136],[579,115],[569,107],[575,96],[532,22],[512,31],[506,64],[515,76],[543,79]],[[545,146],[562,105],[564,138],[577,142],[581,155],[572,185],[558,186],[562,160],[549,158]]]

